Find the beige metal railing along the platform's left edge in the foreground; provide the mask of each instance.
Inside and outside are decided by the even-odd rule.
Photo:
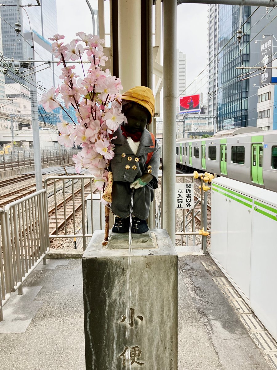
[[[50,251],[46,191],[40,190],[0,209],[2,263],[1,305],[11,292],[23,294],[22,283]]]

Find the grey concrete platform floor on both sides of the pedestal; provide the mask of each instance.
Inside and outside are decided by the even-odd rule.
[[[273,369],[215,276],[208,255],[179,258],[178,370]],[[4,306],[0,369],[85,370],[81,259],[48,259],[23,292]]]

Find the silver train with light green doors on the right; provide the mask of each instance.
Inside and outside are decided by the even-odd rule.
[[[176,166],[217,173],[277,192],[277,130],[243,127],[214,137],[177,139]]]

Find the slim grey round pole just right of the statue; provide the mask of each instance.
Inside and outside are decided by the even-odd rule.
[[[163,1],[163,227],[175,245],[177,1]]]

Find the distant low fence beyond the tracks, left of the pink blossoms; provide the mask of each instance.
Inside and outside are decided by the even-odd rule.
[[[79,149],[62,150],[41,150],[41,164],[52,162],[71,162],[72,156],[77,154]],[[34,165],[34,150],[14,150],[8,154],[0,155],[0,170],[15,169]]]

